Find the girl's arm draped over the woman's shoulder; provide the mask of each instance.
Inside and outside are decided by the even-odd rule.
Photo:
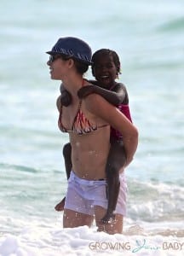
[[[88,85],[84,86],[78,90],[78,97],[83,98],[89,96],[89,94],[96,93],[106,99],[107,102],[110,102],[114,106],[118,106],[120,103],[123,103],[127,96],[127,91],[124,87],[124,84],[117,83],[115,85],[115,91],[106,90],[97,85]],[[128,103],[124,103],[128,104]]]

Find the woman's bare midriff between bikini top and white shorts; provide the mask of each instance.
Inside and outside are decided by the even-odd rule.
[[[73,172],[88,180],[106,178],[106,160],[110,148],[109,127],[82,136],[70,133],[70,140]]]

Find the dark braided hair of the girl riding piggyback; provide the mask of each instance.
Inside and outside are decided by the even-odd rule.
[[[95,51],[95,53],[93,54],[92,59],[91,59],[91,61],[93,62],[93,64],[92,64],[92,73],[93,73],[93,75],[95,75],[95,65],[97,64],[98,59],[101,55],[112,56],[114,64],[117,67],[117,75],[121,73],[120,72],[121,63],[119,61],[118,54],[112,49],[98,49],[97,51]]]

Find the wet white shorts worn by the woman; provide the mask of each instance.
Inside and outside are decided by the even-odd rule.
[[[114,213],[126,215],[127,184],[124,173],[119,175],[120,187],[117,207]],[[86,180],[71,172],[68,179],[65,209],[94,215],[94,207],[107,209],[106,180]]]

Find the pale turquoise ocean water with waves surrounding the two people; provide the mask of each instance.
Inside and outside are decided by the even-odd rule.
[[[2,0],[0,10],[0,255],[183,255],[183,1]],[[66,193],[68,137],[57,127],[60,83],[45,51],[61,36],[121,59],[140,132],[123,235],[63,230],[54,209]]]

